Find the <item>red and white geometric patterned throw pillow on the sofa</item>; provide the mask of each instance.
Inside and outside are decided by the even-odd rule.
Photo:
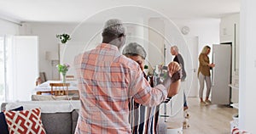
[[[5,111],[9,133],[45,134],[41,120],[41,109]]]

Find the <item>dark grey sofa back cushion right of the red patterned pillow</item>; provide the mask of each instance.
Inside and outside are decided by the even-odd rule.
[[[46,133],[49,134],[71,134],[72,117],[71,112],[42,113],[42,121]]]

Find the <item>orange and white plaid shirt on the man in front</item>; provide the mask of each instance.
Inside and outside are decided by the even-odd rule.
[[[155,106],[166,99],[163,85],[150,87],[139,65],[102,43],[75,59],[81,109],[76,133],[131,133],[129,100]]]

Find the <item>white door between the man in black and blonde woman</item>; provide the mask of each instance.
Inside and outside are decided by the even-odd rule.
[[[188,59],[192,60],[192,66],[187,66],[187,89],[184,90],[187,97],[198,97],[198,36],[186,37],[187,45],[189,47]]]

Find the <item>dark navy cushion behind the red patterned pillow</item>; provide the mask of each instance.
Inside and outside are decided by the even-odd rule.
[[[15,111],[20,111],[23,110],[23,107],[19,107],[17,109],[12,109]],[[3,112],[0,113],[0,134],[9,134],[9,130],[8,130],[8,125],[7,122],[5,120],[5,115],[3,114]]]

